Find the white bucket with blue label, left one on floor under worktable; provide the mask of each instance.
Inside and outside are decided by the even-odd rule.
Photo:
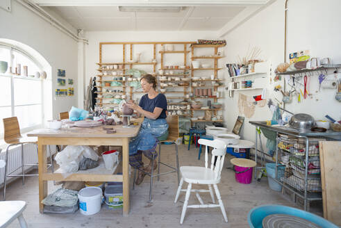
[[[78,192],[79,209],[83,215],[94,215],[101,210],[103,193],[99,187],[86,187]]]

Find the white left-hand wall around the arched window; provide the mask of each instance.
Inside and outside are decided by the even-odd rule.
[[[52,115],[69,111],[76,106],[77,100],[77,42],[60,32],[41,17],[35,15],[17,1],[12,1],[12,11],[0,9],[0,38],[22,42],[38,51],[51,65]],[[66,79],[74,79],[74,97],[55,98],[57,86],[57,69],[66,70]],[[67,88],[67,86],[63,87]],[[51,116],[49,116],[51,118]]]

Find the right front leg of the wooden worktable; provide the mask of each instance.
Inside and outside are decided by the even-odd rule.
[[[123,215],[130,210],[129,201],[129,139],[124,138],[122,144],[122,172],[123,172]]]

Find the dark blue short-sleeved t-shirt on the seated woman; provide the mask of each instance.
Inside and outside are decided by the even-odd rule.
[[[144,110],[144,111],[149,111],[150,113],[153,113],[154,108],[162,108],[163,111],[161,114],[158,116],[157,119],[165,118],[167,117],[166,111],[167,111],[167,99],[166,96],[163,95],[162,93],[159,93],[156,97],[153,99],[149,99],[148,94],[143,95],[140,99],[140,104],[139,106]]]

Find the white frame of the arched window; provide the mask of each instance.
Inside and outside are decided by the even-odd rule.
[[[35,64],[35,66],[38,68],[38,70],[41,72],[42,69],[42,65],[39,63],[38,60],[35,60],[35,58],[33,58],[32,56],[30,56],[28,53],[26,53],[25,51],[18,49],[17,47],[11,45],[11,44],[4,44],[1,43],[0,44],[0,48],[1,49],[9,49],[10,50],[10,59],[8,60],[8,69],[10,69],[10,67],[13,67],[13,55],[15,55],[15,52],[18,52],[19,54],[22,54],[23,56],[25,56],[26,58],[28,58],[29,60],[32,61],[33,64]],[[12,68],[13,69],[13,68]],[[35,79],[35,78],[31,78],[28,76],[20,76],[20,75],[16,75],[16,74],[12,74],[12,73],[1,73],[0,77],[7,77],[10,78],[10,105],[7,106],[0,106],[0,108],[8,108],[10,107],[11,109],[11,116],[14,117],[15,116],[15,107],[19,107],[19,106],[34,106],[34,105],[40,105],[41,106],[41,122],[40,124],[35,124],[31,127],[25,127],[25,128],[20,128],[20,131],[22,133],[31,131],[33,129],[38,129],[40,127],[42,127],[44,125],[44,92],[43,92],[43,81],[42,79]],[[31,81],[40,81],[40,103],[28,103],[28,104],[19,104],[19,105],[15,105],[15,92],[14,92],[14,87],[15,87],[15,79],[24,79],[24,80],[31,80]],[[3,138],[3,132],[0,132],[0,136],[1,138]]]

